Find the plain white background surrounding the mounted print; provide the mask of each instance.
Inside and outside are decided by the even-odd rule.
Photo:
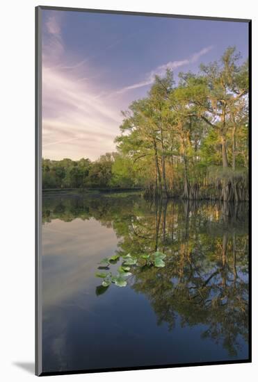
[[[234,17],[252,19],[252,185],[253,256],[252,311],[253,363],[207,367],[184,367],[104,374],[51,376],[51,379],[131,382],[134,379],[180,379],[181,381],[234,382],[253,378],[257,368],[257,244],[255,217],[258,216],[257,126],[257,10],[255,1],[19,1],[1,4],[1,377],[3,381],[36,378],[17,363],[34,360],[34,7],[72,6],[136,12]],[[255,44],[256,43],[256,44]],[[256,191],[256,192],[255,192]]]

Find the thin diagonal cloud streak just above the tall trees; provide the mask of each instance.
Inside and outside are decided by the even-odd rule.
[[[167,69],[175,70],[178,67],[196,63],[200,57],[204,56],[204,54],[211,51],[211,49],[213,49],[213,46],[205,47],[201,51],[198,51],[197,53],[193,53],[192,56],[184,60],[169,61],[166,64],[159,65],[158,67],[153,69],[150,73],[148,73],[143,81],[139,81],[138,83],[134,83],[133,85],[125,86],[124,88],[118,90],[116,93],[122,94],[124,92],[127,92],[128,90],[142,88],[143,86],[151,85],[154,82],[155,76],[163,76],[164,74],[166,74]]]

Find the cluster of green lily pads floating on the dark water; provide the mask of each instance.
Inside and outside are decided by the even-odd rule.
[[[154,252],[154,254],[144,254],[136,258],[127,254],[126,256],[113,255],[109,258],[103,258],[99,263],[99,269],[109,270],[111,265],[114,265],[122,258],[122,264],[118,267],[117,274],[113,276],[112,272],[97,272],[95,275],[103,279],[102,285],[97,286],[96,294],[103,294],[107,288],[114,283],[119,287],[127,286],[127,278],[133,274],[130,272],[132,267],[165,267],[164,259],[166,254],[162,252]]]

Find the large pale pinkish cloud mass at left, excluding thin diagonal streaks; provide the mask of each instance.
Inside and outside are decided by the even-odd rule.
[[[51,15],[45,23],[42,60],[42,154],[45,158],[96,159],[115,149],[113,140],[122,120],[112,101],[99,97],[92,73],[84,61],[65,71],[74,60],[64,51],[60,20]],[[68,65],[67,65],[68,66]],[[97,74],[96,74],[97,75]],[[93,76],[94,77],[94,76]],[[84,81],[87,80],[87,81]]]

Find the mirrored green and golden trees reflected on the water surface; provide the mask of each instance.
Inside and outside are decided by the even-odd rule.
[[[203,338],[237,355],[241,338],[248,341],[248,204],[44,199],[43,223],[77,217],[112,226],[121,256],[165,253],[164,268],[131,270],[131,288],[149,299],[158,324],[202,324]]]

